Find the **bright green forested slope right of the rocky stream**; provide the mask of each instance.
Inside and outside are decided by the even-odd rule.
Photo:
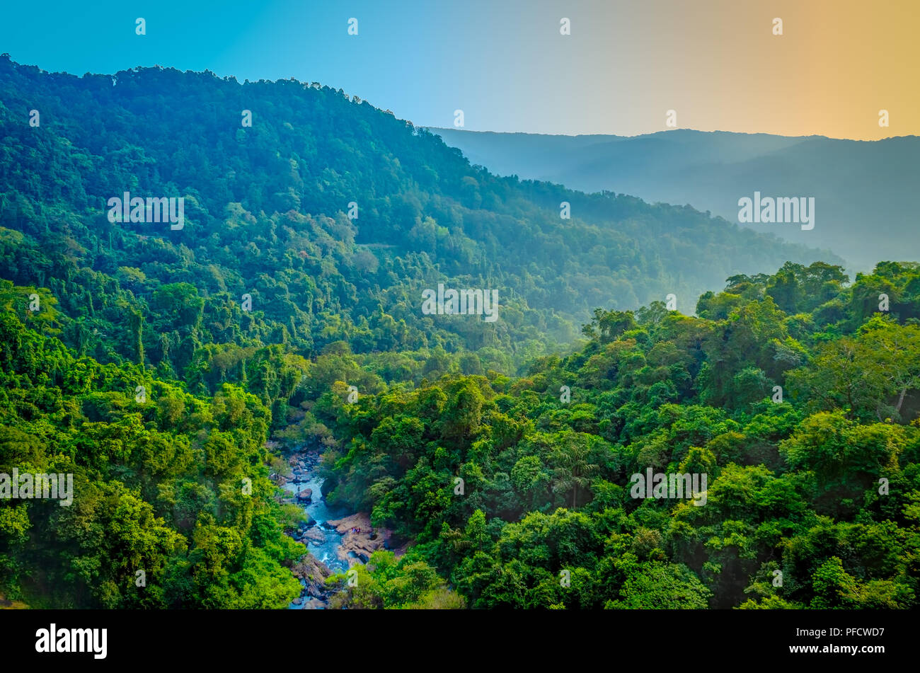
[[[343,604],[436,569],[476,608],[915,608],[920,265],[788,264],[696,308],[598,311],[521,378],[324,411],[328,497],[417,541]],[[707,474],[705,502],[636,497],[649,469]]]

